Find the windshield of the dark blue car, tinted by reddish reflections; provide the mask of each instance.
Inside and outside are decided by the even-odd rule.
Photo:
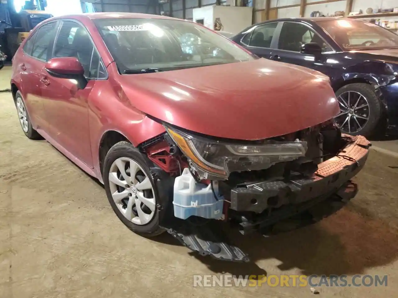
[[[398,48],[398,35],[363,20],[318,21],[343,50]]]

